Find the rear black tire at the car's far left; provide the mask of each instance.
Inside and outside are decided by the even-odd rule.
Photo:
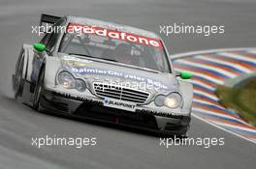
[[[21,61],[19,62],[18,68],[16,70],[16,80],[15,80],[15,99],[22,95],[23,92],[23,65],[24,65],[24,57],[22,57]]]

